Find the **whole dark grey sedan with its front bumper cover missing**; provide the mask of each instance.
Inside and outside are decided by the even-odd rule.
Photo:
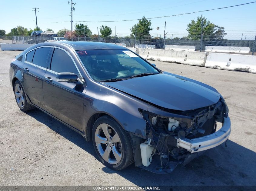
[[[110,43],[36,44],[13,59],[10,82],[20,110],[36,107],[78,132],[114,170],[170,173],[231,132],[216,89]]]

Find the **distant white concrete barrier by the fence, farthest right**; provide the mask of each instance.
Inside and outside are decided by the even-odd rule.
[[[205,52],[249,53],[250,48],[244,46],[205,46]]]

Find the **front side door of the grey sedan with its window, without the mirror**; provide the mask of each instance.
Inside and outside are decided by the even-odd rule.
[[[43,93],[46,111],[63,122],[83,131],[83,103],[86,87],[81,82],[59,82],[59,72],[81,73],[71,55],[55,47],[50,66],[44,75]]]

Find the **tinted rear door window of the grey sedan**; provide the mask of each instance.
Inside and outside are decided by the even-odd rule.
[[[50,53],[51,47],[42,47],[35,49],[35,55],[32,63],[43,68],[47,68],[47,58]]]

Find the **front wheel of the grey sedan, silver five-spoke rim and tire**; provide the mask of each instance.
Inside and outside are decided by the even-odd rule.
[[[113,170],[122,170],[133,162],[131,142],[125,130],[110,116],[96,120],[92,141],[100,161]]]

